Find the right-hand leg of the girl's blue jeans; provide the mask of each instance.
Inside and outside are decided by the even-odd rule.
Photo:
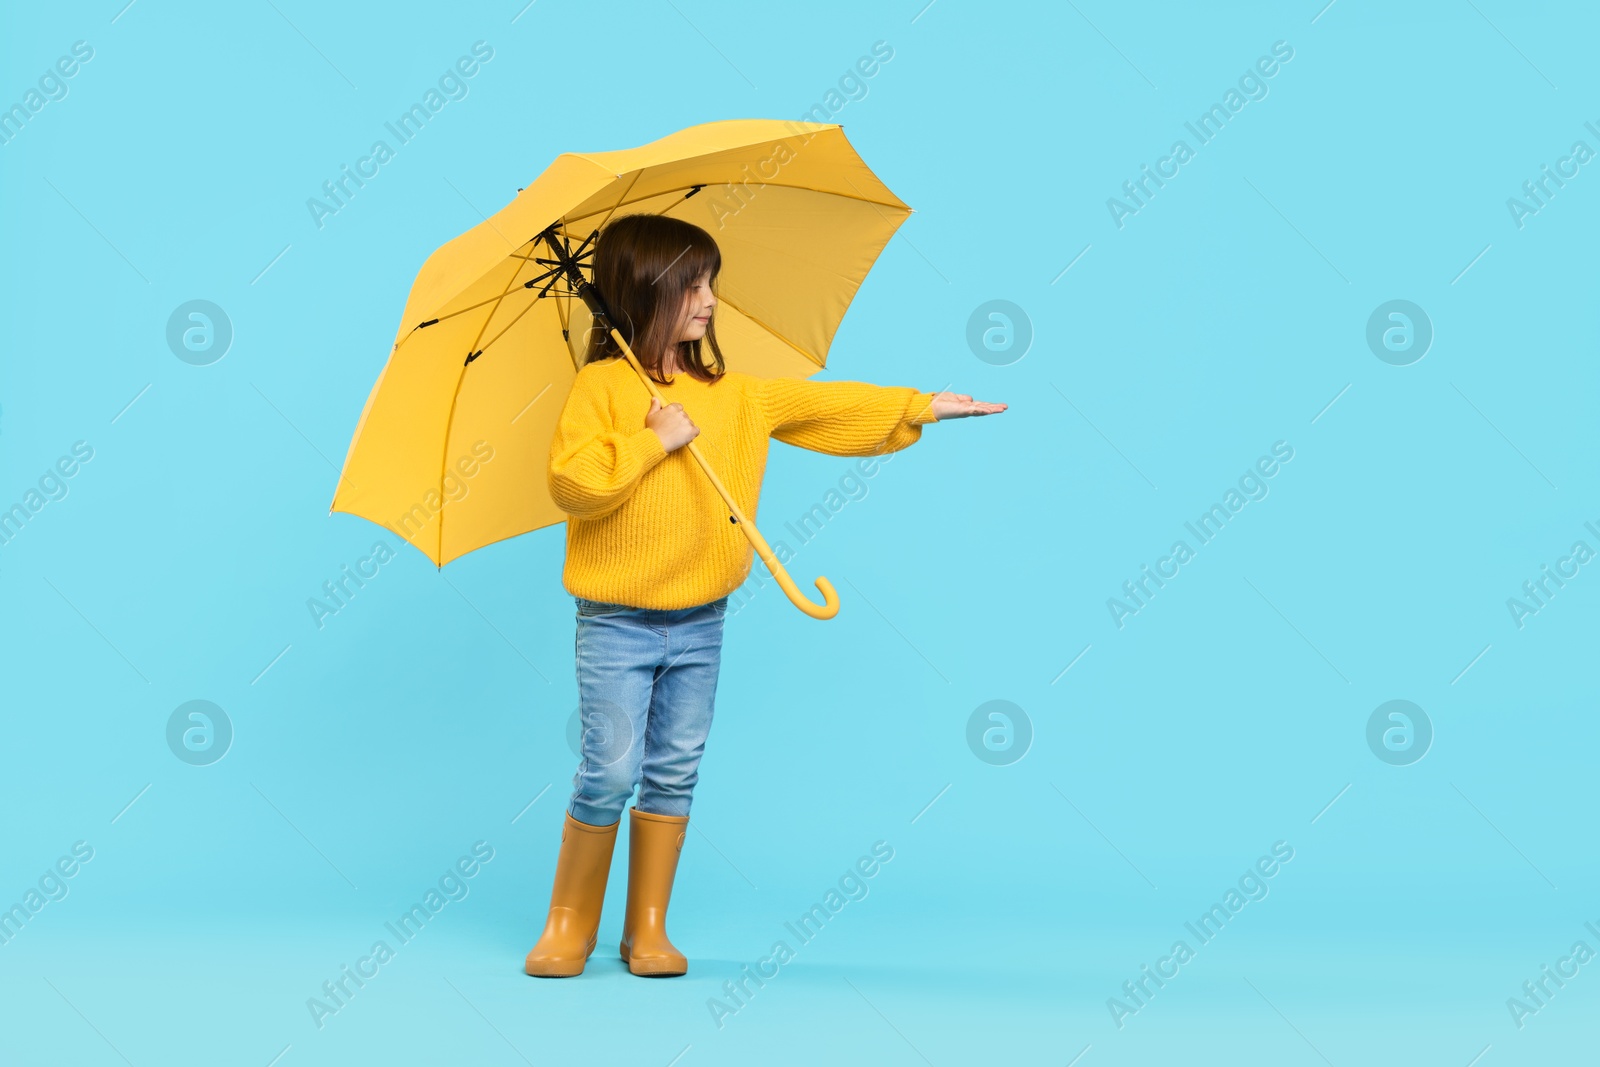
[[[638,809],[688,816],[701,753],[710,733],[722,667],[726,598],[675,613],[662,629],[667,654],[656,672],[654,699],[645,726]]]

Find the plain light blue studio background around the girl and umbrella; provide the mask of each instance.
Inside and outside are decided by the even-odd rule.
[[[1506,1001],[1600,949],[1600,566],[1522,629],[1506,601],[1600,549],[1600,163],[1522,227],[1507,198],[1600,149],[1597,29],[1504,0],[13,11],[0,101],[94,58],[0,146],[0,506],[94,458],[0,549],[0,904],[94,857],[0,945],[0,1061],[1592,1057],[1600,963],[1523,1029]],[[469,96],[317,229],[306,200],[477,40]],[[336,469],[434,248],[560,152],[798,118],[877,40],[834,122],[917,213],[821,378],[1010,410],[928,427],[798,552],[837,619],[776,590],[730,619],[690,974],[614,958],[619,843],[587,973],[525,977],[574,768],[562,528],[437,571],[328,515]],[[1178,138],[1118,229],[1107,198]],[[210,366],[165,341],[190,299],[234,323]],[[1005,366],[965,339],[990,299],[1034,331]],[[1365,341],[1392,299],[1435,330],[1410,366]],[[1278,440],[1270,494],[1118,629],[1106,600]],[[768,537],[851,466],[773,445]],[[306,601],[379,539],[318,629]],[[211,766],[166,747],[192,699],[237,731]],[[1010,766],[966,745],[992,699],[1032,723]],[[1390,699],[1435,729],[1410,766],[1366,745]],[[318,1030],[307,998],[480,840],[470,894]],[[878,840],[869,896],[718,1029],[707,998]],[[1280,840],[1270,894],[1118,1029],[1107,998]]]

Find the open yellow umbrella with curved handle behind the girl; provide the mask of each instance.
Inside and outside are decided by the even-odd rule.
[[[557,157],[422,264],[330,514],[370,518],[440,568],[566,520],[546,470],[592,325],[610,330],[661,397],[584,274],[614,214],[667,214],[707,230],[722,250],[717,338],[728,368],[810,378],[910,211],[834,123],[712,122],[637,149]],[[832,582],[818,577],[824,603],[811,603],[694,442],[688,450],[789,600],[834,617]]]

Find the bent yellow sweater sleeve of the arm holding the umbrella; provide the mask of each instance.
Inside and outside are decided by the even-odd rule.
[[[643,418],[638,427],[613,426],[605,398],[590,386],[592,376],[579,373],[550,438],[550,499],[574,518],[621,507],[667,454]]]

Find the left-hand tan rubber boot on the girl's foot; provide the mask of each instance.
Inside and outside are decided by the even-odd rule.
[[[536,977],[573,977],[584,973],[589,953],[595,950],[600,931],[600,905],[611,873],[611,849],[616,829],[589,825],[570,813],[562,824],[562,853],[555,861],[555,885],[550,888],[550,913],[544,933],[533,945],[523,971]]]

